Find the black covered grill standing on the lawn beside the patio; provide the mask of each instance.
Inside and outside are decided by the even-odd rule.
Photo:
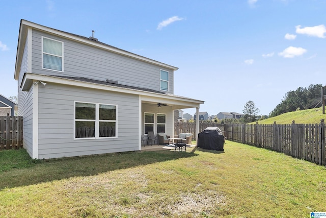
[[[198,134],[198,148],[224,151],[224,136],[218,127],[207,127]]]

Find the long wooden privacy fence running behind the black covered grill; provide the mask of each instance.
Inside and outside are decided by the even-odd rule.
[[[326,165],[326,133],[324,119],[319,124],[216,124],[201,122],[199,132],[219,127],[228,140],[281,152],[289,156]],[[175,135],[193,133],[196,123],[175,123]]]

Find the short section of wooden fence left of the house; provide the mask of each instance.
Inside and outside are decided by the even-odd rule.
[[[22,148],[22,116],[0,116],[0,150]]]

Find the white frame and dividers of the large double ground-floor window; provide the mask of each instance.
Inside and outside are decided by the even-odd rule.
[[[76,103],[86,103],[86,104],[95,104],[95,119],[76,119]],[[109,105],[116,107],[116,119],[115,120],[100,120],[99,119],[99,105]],[[95,122],[95,137],[85,137],[85,138],[76,138],[76,121],[87,121]],[[99,123],[100,122],[112,122],[116,123],[116,135],[111,137],[99,137]],[[118,138],[118,105],[113,104],[103,104],[103,103],[93,103],[93,102],[82,102],[74,101],[73,102],[73,139],[74,140],[84,140],[84,139],[105,139],[105,138]]]

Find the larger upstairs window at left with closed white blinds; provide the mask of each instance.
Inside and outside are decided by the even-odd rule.
[[[42,37],[42,69],[63,72],[63,42]]]

